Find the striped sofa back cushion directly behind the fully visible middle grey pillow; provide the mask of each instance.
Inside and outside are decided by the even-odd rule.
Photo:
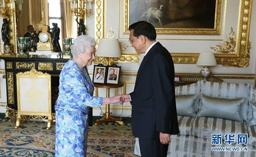
[[[250,84],[201,81],[201,94],[217,98],[244,98],[240,111],[244,122],[248,122],[249,91]]]

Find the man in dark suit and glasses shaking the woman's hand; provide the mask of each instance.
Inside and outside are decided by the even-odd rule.
[[[142,157],[166,157],[170,135],[179,133],[171,54],[156,41],[153,25],[139,21],[129,26],[131,46],[145,53],[134,92],[121,95],[130,101],[131,125],[139,138]]]

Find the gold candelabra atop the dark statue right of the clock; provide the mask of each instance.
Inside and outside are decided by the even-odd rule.
[[[84,16],[90,17],[92,14],[92,9],[91,9],[91,3],[93,0],[69,0],[70,2],[70,12],[76,16],[80,17],[80,19],[84,18]],[[89,12],[87,11],[86,8],[86,2],[89,2]]]

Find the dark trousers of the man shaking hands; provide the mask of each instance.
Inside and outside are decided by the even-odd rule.
[[[160,143],[160,139],[147,140],[139,138],[141,157],[166,157],[169,144]]]

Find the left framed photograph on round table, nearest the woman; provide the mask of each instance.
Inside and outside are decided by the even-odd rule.
[[[103,64],[94,65],[93,69],[93,83],[105,84],[107,67]]]

